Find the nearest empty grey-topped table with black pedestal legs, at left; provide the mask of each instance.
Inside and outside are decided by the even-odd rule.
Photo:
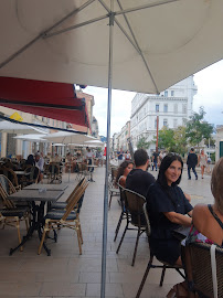
[[[38,184],[36,184],[38,185]],[[32,236],[34,231],[38,231],[39,238],[42,238],[42,228],[44,226],[44,205],[45,202],[55,202],[64,193],[62,190],[51,190],[47,191],[43,188],[39,190],[20,190],[10,194],[9,200],[12,201],[26,201],[32,203],[32,221],[31,226],[28,231],[28,234],[23,236],[22,242],[15,248],[10,249],[10,255],[12,255],[19,247],[23,246],[24,243]],[[40,202],[40,205],[36,205],[35,202]],[[56,234],[54,233],[54,240],[56,241]],[[51,251],[47,248],[46,244],[43,244],[43,247],[47,255],[51,255]]]

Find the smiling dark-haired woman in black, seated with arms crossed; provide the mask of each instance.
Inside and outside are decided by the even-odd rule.
[[[167,155],[160,164],[158,179],[149,188],[147,209],[151,225],[150,249],[155,256],[170,265],[181,265],[180,241],[172,231],[190,226],[192,205],[178,187],[181,181],[183,161],[179,155]]]

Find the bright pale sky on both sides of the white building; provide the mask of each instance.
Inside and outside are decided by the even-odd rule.
[[[200,106],[206,113],[205,120],[214,125],[223,125],[223,61],[217,62],[203,71],[194,74],[198,93],[193,97],[193,110],[199,111]],[[85,93],[94,95],[95,106],[93,115],[99,127],[99,135],[106,136],[107,131],[107,97],[106,88],[87,86]],[[121,127],[130,120],[131,100],[136,93],[113,91],[112,94],[112,121],[110,136],[119,132]]]

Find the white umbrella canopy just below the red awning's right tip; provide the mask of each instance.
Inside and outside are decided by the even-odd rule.
[[[87,135],[79,135],[75,132],[54,132],[44,136],[44,139],[50,142],[60,142],[60,143],[83,143],[86,140],[95,139]]]

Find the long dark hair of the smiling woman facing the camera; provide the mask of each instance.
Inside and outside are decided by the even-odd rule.
[[[172,183],[172,185],[178,185],[181,181],[181,177],[182,177],[182,170],[183,170],[183,161],[182,161],[182,158],[177,155],[177,153],[168,153],[161,161],[161,164],[160,164],[160,168],[159,168],[159,174],[158,174],[158,178],[157,178],[157,182],[162,187],[162,188],[167,188],[168,187],[168,183],[167,183],[167,178],[164,175],[167,169],[170,167],[170,164],[173,162],[173,161],[180,161],[181,163],[181,174],[180,177],[178,178],[178,180],[176,182]]]

